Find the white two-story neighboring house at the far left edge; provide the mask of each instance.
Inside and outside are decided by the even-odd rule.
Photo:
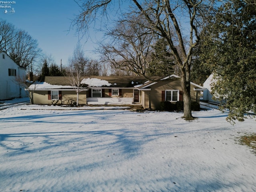
[[[18,78],[25,82],[26,69],[16,64],[6,52],[0,51],[0,100],[26,97]]]

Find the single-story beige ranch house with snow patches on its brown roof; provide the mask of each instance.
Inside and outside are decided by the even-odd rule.
[[[150,77],[152,81],[138,76],[93,76],[82,80],[78,104],[130,105],[141,104],[145,109],[159,109],[160,102],[183,100],[178,76]],[[68,85],[67,77],[46,76],[44,82],[35,85],[34,104],[74,104],[76,92]],[[199,89],[191,83],[191,99],[199,102]]]

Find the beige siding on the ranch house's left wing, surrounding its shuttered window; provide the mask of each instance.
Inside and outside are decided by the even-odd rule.
[[[34,104],[73,104],[76,102],[75,91],[62,91],[62,100],[48,100],[48,90],[35,91],[33,95]],[[79,104],[86,104],[86,92],[80,92],[78,97]]]

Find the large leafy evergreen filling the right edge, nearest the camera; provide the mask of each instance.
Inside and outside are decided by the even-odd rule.
[[[229,110],[228,121],[243,121],[256,112],[256,5],[228,1],[205,34],[200,58],[216,75],[212,93]]]

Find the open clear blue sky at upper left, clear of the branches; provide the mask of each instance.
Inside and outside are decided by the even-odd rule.
[[[15,4],[4,4],[4,2],[15,2]],[[75,31],[68,32],[71,20],[78,14],[80,7],[74,0],[2,0],[1,6],[11,6],[0,8],[0,17],[14,24],[16,28],[28,32],[34,39],[38,40],[39,47],[43,52],[52,54],[56,64],[65,66],[68,57],[72,56],[74,48],[78,42]],[[14,9],[15,13],[9,13]],[[90,33],[90,37],[95,39],[100,36],[97,33]],[[98,37],[97,37],[98,38]],[[99,40],[100,38],[98,38]],[[91,40],[85,44],[82,40],[85,56],[96,58],[92,50],[96,47]]]

